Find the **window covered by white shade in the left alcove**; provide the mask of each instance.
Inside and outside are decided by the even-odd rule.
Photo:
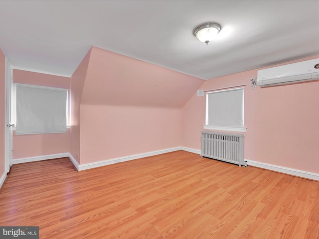
[[[68,89],[15,84],[15,134],[66,132],[67,93]]]

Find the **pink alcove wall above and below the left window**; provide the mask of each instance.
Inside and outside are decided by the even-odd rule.
[[[13,82],[70,89],[70,78],[13,69]],[[13,159],[67,153],[70,150],[70,130],[66,133],[15,135]]]

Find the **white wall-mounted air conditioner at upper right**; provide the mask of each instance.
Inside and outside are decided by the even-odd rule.
[[[257,84],[260,87],[315,80],[319,80],[319,59],[272,67],[257,72]]]

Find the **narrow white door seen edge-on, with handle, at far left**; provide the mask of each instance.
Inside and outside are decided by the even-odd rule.
[[[4,140],[4,170],[6,173],[10,171],[12,165],[13,156],[13,129],[11,126],[11,93],[12,93],[12,69],[10,67],[7,57],[5,57],[5,106],[4,106],[4,117],[5,117],[5,140]]]

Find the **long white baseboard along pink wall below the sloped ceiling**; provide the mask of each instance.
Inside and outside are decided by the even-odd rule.
[[[94,163],[80,164],[78,166],[78,171],[96,168],[96,167],[101,167],[101,166],[106,166],[106,165],[110,165],[110,164],[114,164],[114,163],[125,162],[125,161],[139,159],[139,158],[150,157],[150,156],[163,154],[163,153],[169,153],[169,152],[173,152],[173,151],[177,151],[177,150],[180,150],[180,147],[157,150],[157,151],[148,152],[148,153],[135,154],[135,155],[126,156],[126,157],[107,159],[107,160],[98,161],[98,162],[94,162]]]

